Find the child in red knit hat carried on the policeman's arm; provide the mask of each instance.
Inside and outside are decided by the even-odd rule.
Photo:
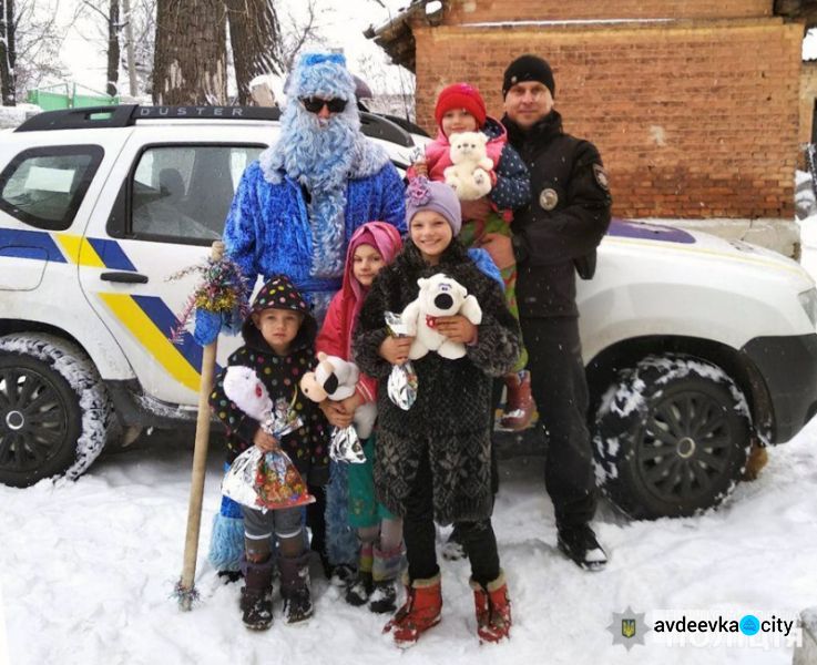
[[[489,172],[491,191],[477,201],[461,201],[462,231],[458,236],[466,247],[480,247],[490,234],[511,235],[513,211],[530,203],[531,184],[528,167],[522,157],[508,143],[502,124],[488,115],[486,102],[479,91],[468,83],[453,83],[443,88],[435,108],[437,137],[426,145],[426,155],[408,171],[409,180],[427,176],[445,182],[445,172],[451,166],[451,136],[461,132],[482,132],[488,136],[486,151],[493,162]],[[497,266],[505,286],[505,305],[519,319],[517,307],[517,265]],[[528,352],[522,348],[513,371],[504,377],[508,389],[505,412],[501,424],[504,429],[521,430],[528,427],[533,415],[530,374],[525,370]]]

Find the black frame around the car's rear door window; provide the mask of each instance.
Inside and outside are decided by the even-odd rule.
[[[163,149],[163,147],[257,147],[261,151],[265,151],[269,147],[268,143],[235,143],[232,141],[195,141],[195,142],[155,142],[145,143],[139,149],[139,152],[134,155],[133,162],[131,163],[124,182],[120,186],[120,191],[116,194],[116,200],[111,208],[105,231],[112,238],[125,239],[125,241],[141,241],[145,243],[164,243],[172,245],[197,245],[201,247],[210,247],[213,244],[212,239],[207,238],[183,238],[175,235],[157,234],[157,233],[134,233],[133,231],[133,183],[136,175],[142,157],[150,150]]]

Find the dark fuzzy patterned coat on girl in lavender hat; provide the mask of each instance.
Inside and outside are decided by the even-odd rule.
[[[404,411],[388,397],[385,383],[391,365],[378,354],[388,334],[384,315],[401,313],[419,293],[417,279],[437,273],[453,277],[476,296],[482,323],[477,342],[467,347],[463,358],[447,360],[431,351],[411,361],[419,385],[417,401]],[[360,369],[380,383],[375,485],[378,499],[391,512],[406,514],[417,468],[427,454],[439,522],[491,514],[491,377],[510,371],[519,350],[519,325],[499,285],[479,272],[457,241],[437,266],[426,264],[407,241],[395,262],[380,270],[360,310],[354,354]]]

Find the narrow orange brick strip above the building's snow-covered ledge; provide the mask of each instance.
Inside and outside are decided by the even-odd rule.
[[[772,16],[773,0],[450,0],[447,25],[483,21],[742,19]]]

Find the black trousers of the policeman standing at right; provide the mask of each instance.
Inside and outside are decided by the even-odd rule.
[[[533,399],[548,433],[544,484],[556,525],[586,524],[595,513],[596,489],[579,320],[552,317],[520,323]]]

